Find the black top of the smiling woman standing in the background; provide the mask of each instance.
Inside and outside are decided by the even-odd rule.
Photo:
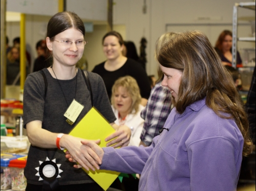
[[[138,83],[138,87],[140,90],[140,95],[142,98],[148,99],[151,91],[150,82],[147,77],[146,71],[141,67],[141,64],[136,62],[131,58],[127,58],[127,61],[124,65],[115,70],[115,71],[108,71],[104,68],[105,61],[98,64],[94,67],[92,72],[98,73],[105,83],[108,97],[111,98],[112,94],[112,87],[115,81],[119,77],[123,77],[126,75],[130,75],[134,77]]]

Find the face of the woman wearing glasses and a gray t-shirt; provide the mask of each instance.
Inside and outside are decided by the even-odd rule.
[[[53,63],[65,66],[76,65],[82,57],[84,47],[77,47],[75,42],[84,40],[83,34],[75,28],[70,28],[56,35],[54,39],[51,41],[49,37],[46,38],[47,47],[53,52]],[[73,43],[70,46],[64,46],[60,43],[62,40],[69,40]]]

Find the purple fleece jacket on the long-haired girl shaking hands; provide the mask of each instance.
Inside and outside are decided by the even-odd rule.
[[[139,191],[236,191],[243,137],[205,99],[174,108],[152,145],[103,148],[101,169],[141,174]]]

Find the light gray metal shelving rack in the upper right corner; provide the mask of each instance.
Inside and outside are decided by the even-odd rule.
[[[233,36],[232,36],[232,66],[236,68],[236,46],[237,41],[256,41],[256,37],[237,37],[237,13],[238,7],[255,10],[256,2],[235,3],[233,8]]]

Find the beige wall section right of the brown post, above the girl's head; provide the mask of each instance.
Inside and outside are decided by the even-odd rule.
[[[214,45],[219,33],[232,31],[233,7],[238,0],[115,0],[114,24],[125,24],[127,40],[133,40],[139,48],[141,37],[148,40],[147,72],[157,75],[154,59],[155,42],[169,31],[203,29]],[[146,3],[146,14],[143,5]],[[244,1],[243,1],[244,2]],[[238,8],[238,35],[252,36],[248,20],[255,20],[255,11]],[[193,26],[194,24],[194,26]],[[195,26],[195,24],[197,24]],[[223,24],[223,25],[222,25]],[[201,26],[200,26],[201,25]],[[209,25],[209,27],[207,27]],[[216,25],[216,26],[215,26]],[[255,42],[238,42],[238,49],[255,47]]]

